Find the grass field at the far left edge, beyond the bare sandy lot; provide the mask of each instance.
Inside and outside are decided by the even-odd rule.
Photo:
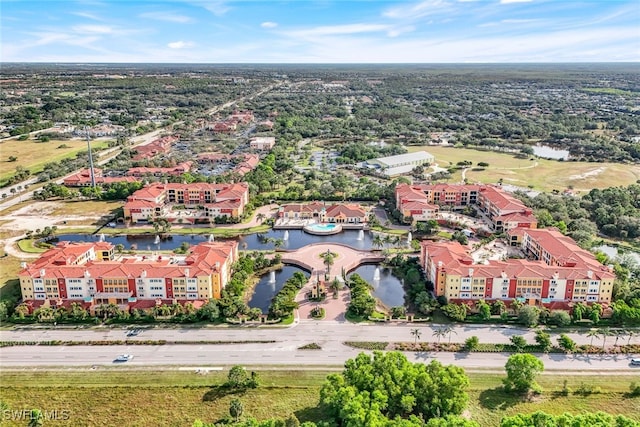
[[[63,144],[68,148],[59,148]],[[91,147],[95,150],[104,149],[107,147],[107,141],[92,141]],[[45,163],[59,162],[66,158],[75,157],[77,153],[86,149],[87,142],[80,139],[51,140],[49,142],[9,139],[0,142],[0,153],[2,153],[0,183],[11,178],[17,166],[22,166],[35,175],[42,172]],[[11,156],[17,157],[17,160],[15,162],[7,161]]]

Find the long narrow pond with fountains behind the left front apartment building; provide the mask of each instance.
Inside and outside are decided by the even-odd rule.
[[[284,240],[285,234],[287,239]],[[99,240],[97,234],[60,234],[52,243],[69,240],[72,242],[91,242]],[[153,234],[128,234],[128,235],[104,235],[104,240],[114,245],[122,244],[125,249],[138,250],[173,250],[179,248],[183,242],[195,246],[206,242],[209,236],[206,234],[170,234],[160,239]],[[231,240],[215,238],[216,240]],[[372,235],[370,232],[361,233],[359,230],[344,230],[340,234],[331,236],[315,236],[302,230],[270,230],[267,233],[248,234],[233,238],[240,243],[240,249],[274,249],[275,243],[268,239],[283,239],[282,249],[299,249],[311,243],[343,243],[356,249],[371,249]]]

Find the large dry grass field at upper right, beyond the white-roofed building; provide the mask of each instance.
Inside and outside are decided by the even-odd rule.
[[[521,187],[533,186],[535,190],[564,190],[569,186],[576,191],[592,188],[606,188],[612,185],[629,185],[640,180],[640,166],[619,163],[558,162],[554,160],[517,159],[513,154],[495,151],[480,151],[467,148],[411,146],[410,152],[428,151],[436,158],[440,167],[455,165],[470,160],[474,166],[478,162],[489,163],[484,171],[467,170],[469,182],[496,183],[502,179],[505,184]],[[450,182],[459,182],[461,173],[456,172]]]

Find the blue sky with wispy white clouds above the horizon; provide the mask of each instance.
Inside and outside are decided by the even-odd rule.
[[[640,0],[2,0],[3,62],[640,60]]]

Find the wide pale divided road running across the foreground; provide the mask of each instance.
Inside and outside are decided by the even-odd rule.
[[[123,345],[123,346],[16,346],[0,349],[0,366],[85,366],[112,364],[116,355],[133,354],[134,360],[127,366],[147,365],[342,365],[356,356],[360,350],[345,346],[345,341],[412,341],[411,330],[420,329],[421,341],[434,341],[437,325],[391,324],[362,325],[333,321],[298,321],[289,328],[256,326],[220,327],[210,329],[177,328],[144,330],[132,340],[168,340],[193,342],[175,345]],[[507,343],[513,335],[521,335],[534,342],[533,332],[518,328],[486,326],[456,327],[453,342],[463,342],[470,336],[478,336],[480,342]],[[579,344],[590,338],[572,334]],[[124,340],[125,328],[118,329],[20,329],[0,331],[0,341],[91,341]],[[247,344],[199,344],[203,341],[270,341],[272,343]],[[448,341],[448,337],[443,341]],[[638,343],[635,337],[632,343]],[[300,346],[315,342],[322,350],[298,350]],[[609,338],[609,345],[613,339]],[[594,342],[599,344],[599,342]],[[407,352],[413,361],[432,358],[445,364],[453,363],[465,368],[503,369],[507,354],[499,353],[415,353]],[[629,365],[633,355],[541,355],[547,370],[588,370],[638,372]],[[635,356],[637,357],[637,356]]]

